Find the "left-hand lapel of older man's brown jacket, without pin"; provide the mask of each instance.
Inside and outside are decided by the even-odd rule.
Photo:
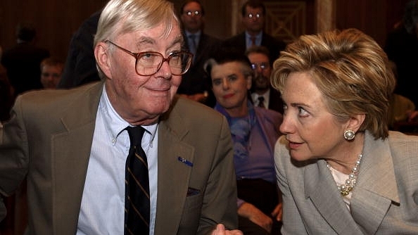
[[[54,234],[75,234],[103,83],[68,105],[63,131],[52,136]],[[81,106],[80,106],[81,104]]]

